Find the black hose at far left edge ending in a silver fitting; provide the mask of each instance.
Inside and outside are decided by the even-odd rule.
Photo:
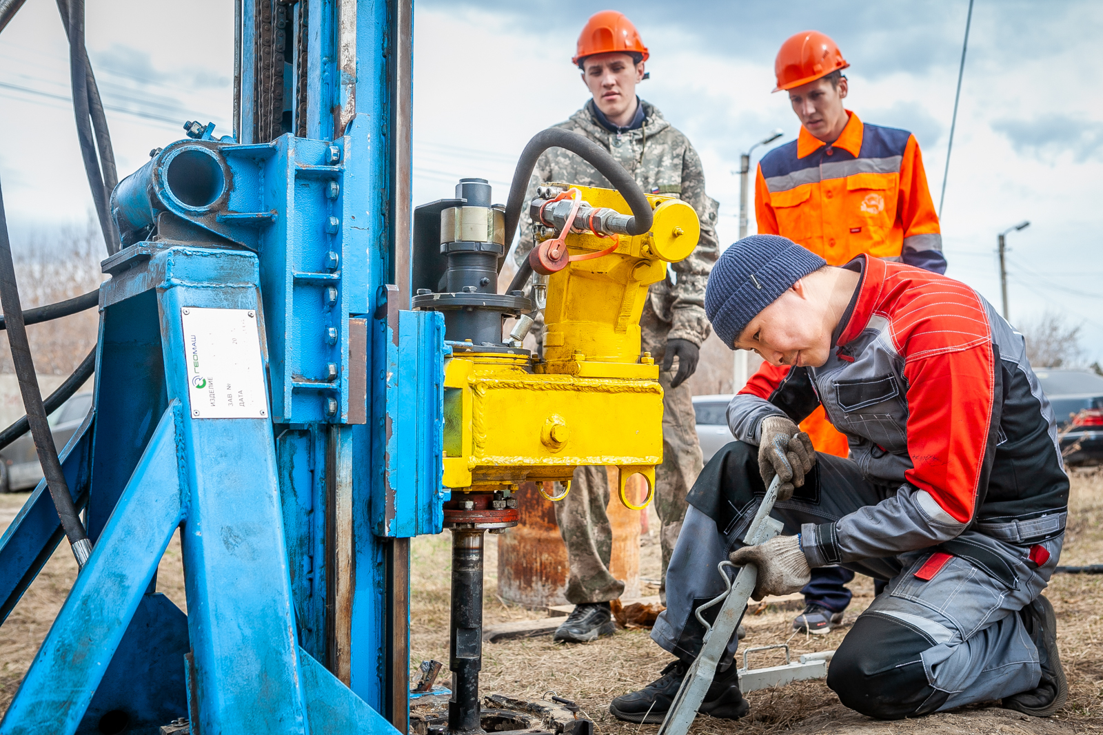
[[[39,463],[50,486],[50,496],[54,499],[54,508],[61,518],[62,529],[73,548],[73,555],[77,565],[83,568],[92,554],[92,543],[88,541],[81,517],[77,516],[73,496],[69,495],[68,483],[65,482],[62,463],[57,458],[57,447],[54,446],[54,435],[46,419],[46,408],[42,403],[39,377],[34,371],[34,360],[26,341],[26,324],[23,323],[23,310],[19,303],[19,287],[15,283],[15,264],[11,259],[11,241],[8,239],[8,218],[4,215],[2,191],[0,191],[0,309],[6,316],[11,361],[19,378],[19,391],[23,396],[23,407],[26,409],[31,435],[34,436]]]

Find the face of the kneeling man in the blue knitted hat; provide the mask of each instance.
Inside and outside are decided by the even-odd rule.
[[[750,321],[735,346],[758,353],[770,365],[820,367],[831,355],[831,334],[801,279]]]

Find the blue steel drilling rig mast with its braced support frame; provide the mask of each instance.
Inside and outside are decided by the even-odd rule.
[[[190,123],[111,196],[95,408],[61,453],[95,545],[0,734],[407,728],[408,539],[446,496],[443,320],[405,311],[413,8],[235,15],[236,139]],[[42,483],[0,616],[58,528]],[[186,616],[156,593],[178,528]]]

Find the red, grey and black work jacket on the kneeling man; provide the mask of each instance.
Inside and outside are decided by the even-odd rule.
[[[813,565],[924,549],[972,528],[1015,544],[1064,530],[1069,482],[1022,336],[967,285],[859,256],[861,280],[818,368],[764,364],[728,407],[736,439],[820,403],[886,499],[806,523]]]

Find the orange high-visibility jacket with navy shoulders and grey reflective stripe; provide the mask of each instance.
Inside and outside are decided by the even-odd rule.
[[[915,137],[847,116],[831,145],[802,127],[795,141],[762,156],[754,183],[758,231],[788,237],[829,266],[865,252],[945,272]]]

